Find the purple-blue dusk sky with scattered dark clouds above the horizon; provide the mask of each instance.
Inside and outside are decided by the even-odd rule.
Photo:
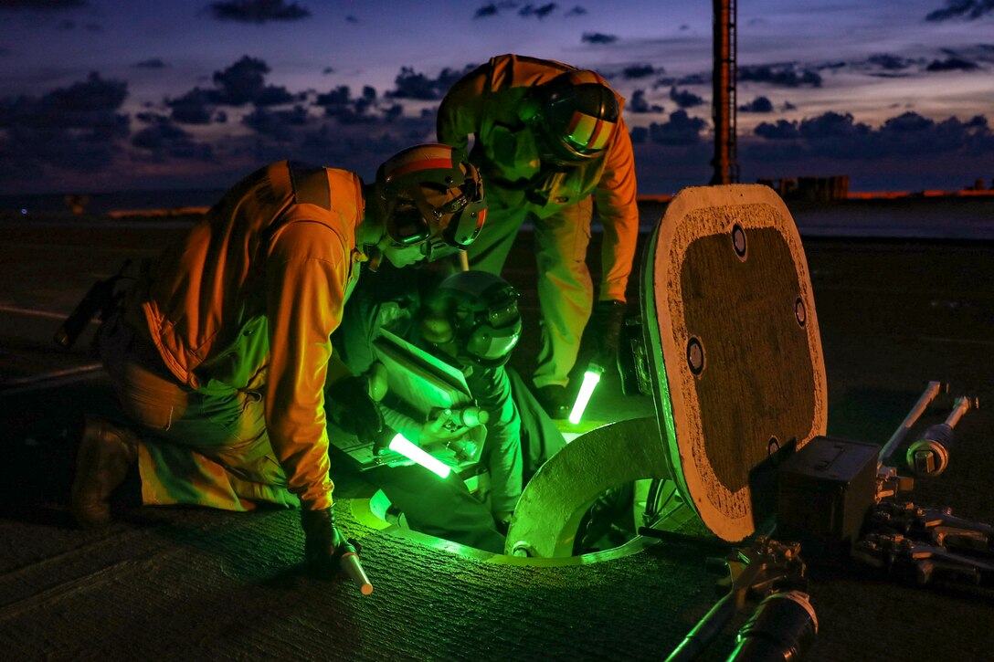
[[[0,0],[0,194],[223,189],[294,158],[370,179],[494,55],[602,74],[641,194],[706,184],[711,2]],[[994,179],[994,0],[741,0],[742,181]]]

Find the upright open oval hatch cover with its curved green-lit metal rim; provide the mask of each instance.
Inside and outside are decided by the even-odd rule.
[[[742,541],[773,515],[770,458],[825,433],[807,264],[772,190],[682,191],[653,233],[641,278],[636,345],[657,420],[594,429],[551,458],[522,495],[508,554],[561,555],[594,490],[642,478],[675,481],[709,530]]]

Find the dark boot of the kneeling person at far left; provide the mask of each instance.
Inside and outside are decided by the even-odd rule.
[[[73,480],[73,515],[83,529],[110,522],[110,494],[138,459],[137,436],[105,418],[86,415]]]

